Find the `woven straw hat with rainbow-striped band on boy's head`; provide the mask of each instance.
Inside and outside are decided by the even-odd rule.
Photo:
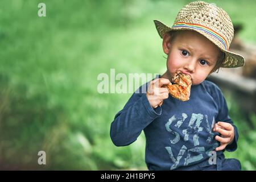
[[[229,15],[219,7],[203,1],[191,2],[179,11],[171,27],[159,20],[154,20],[154,23],[161,38],[174,30],[194,30],[204,35],[225,53],[221,67],[236,68],[245,64],[243,56],[229,51],[234,28]]]

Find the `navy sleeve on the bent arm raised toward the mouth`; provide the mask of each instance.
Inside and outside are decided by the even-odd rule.
[[[110,126],[110,137],[115,146],[127,146],[137,140],[142,130],[162,113],[162,107],[153,109],[145,93],[133,93]]]

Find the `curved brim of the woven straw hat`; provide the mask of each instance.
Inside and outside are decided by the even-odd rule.
[[[177,30],[193,30],[196,32],[199,32],[199,34],[205,36],[207,39],[209,39],[212,43],[214,43],[218,48],[221,49],[222,52],[225,54],[225,59],[222,61],[221,67],[222,68],[237,68],[242,67],[245,65],[245,58],[238,53],[234,53],[231,51],[226,51],[221,46],[219,46],[216,43],[216,40],[210,36],[209,34],[205,33],[204,31],[200,31],[194,28],[184,28],[184,27],[168,27],[166,24],[160,22],[159,20],[154,20],[156,30],[158,31],[158,34],[160,35],[160,38],[163,38],[163,35],[166,34],[166,32],[169,31],[177,31]]]

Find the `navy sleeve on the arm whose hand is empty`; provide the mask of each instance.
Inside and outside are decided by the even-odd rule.
[[[232,119],[229,117],[228,114],[228,106],[226,104],[226,100],[221,92],[221,90],[216,86],[216,93],[217,93],[217,101],[218,101],[218,116],[217,121],[227,122],[230,123],[234,127],[234,140],[232,143],[226,146],[225,150],[228,152],[233,152],[237,149],[237,142],[238,142],[238,130],[236,125],[234,125]]]

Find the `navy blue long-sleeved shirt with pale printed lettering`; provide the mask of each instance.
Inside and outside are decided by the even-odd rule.
[[[159,76],[160,77],[160,76]],[[147,85],[149,82],[146,83]],[[217,85],[203,81],[191,86],[188,101],[169,95],[162,106],[153,109],[141,86],[111,124],[110,137],[115,146],[127,146],[137,140],[142,130],[146,136],[146,164],[149,170],[172,170],[208,162],[220,143],[213,132],[218,121],[233,124],[225,98]],[[140,91],[138,93],[138,91]],[[225,150],[237,148],[238,131]],[[223,156],[223,151],[216,155]]]

